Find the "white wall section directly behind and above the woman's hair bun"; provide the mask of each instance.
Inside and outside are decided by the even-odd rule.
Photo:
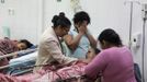
[[[70,0],[44,0],[44,28],[52,26],[52,19],[54,15],[58,15],[59,12],[65,12],[66,16],[71,19],[74,12],[70,9]]]

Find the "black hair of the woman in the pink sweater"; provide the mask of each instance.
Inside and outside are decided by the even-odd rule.
[[[100,35],[99,38],[101,44],[103,44],[103,40],[113,44],[115,46],[122,46],[122,40],[118,36],[118,34],[112,30],[112,28],[106,28],[104,30]]]

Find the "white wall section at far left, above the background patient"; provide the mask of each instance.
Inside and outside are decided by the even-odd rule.
[[[0,3],[0,27],[10,27],[12,39],[26,38],[36,44],[38,30],[37,3],[37,0],[5,0],[4,3]],[[2,33],[2,30],[0,31]]]

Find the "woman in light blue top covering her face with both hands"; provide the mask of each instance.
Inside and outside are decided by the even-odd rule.
[[[87,12],[80,11],[74,15],[75,28],[66,35],[65,43],[69,48],[69,57],[84,59],[90,47],[95,48],[97,42],[88,30],[90,16]],[[67,48],[67,49],[68,49]]]

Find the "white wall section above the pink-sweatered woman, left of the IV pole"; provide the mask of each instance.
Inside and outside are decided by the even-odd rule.
[[[129,8],[124,5],[124,0],[81,0],[81,5],[91,15],[93,35],[98,36],[101,31],[111,27],[121,33],[123,43],[128,44]]]

